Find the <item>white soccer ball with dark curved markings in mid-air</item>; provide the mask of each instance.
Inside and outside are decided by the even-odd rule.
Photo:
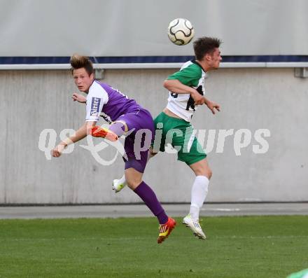
[[[195,30],[189,20],[176,18],[169,24],[168,36],[170,41],[177,46],[185,46],[195,36]]]

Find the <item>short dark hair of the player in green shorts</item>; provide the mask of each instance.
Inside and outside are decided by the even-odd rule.
[[[202,60],[204,55],[211,54],[215,48],[219,48],[221,46],[220,39],[210,38],[208,36],[202,36],[199,39],[196,39],[193,43],[195,50],[195,57],[197,60]]]

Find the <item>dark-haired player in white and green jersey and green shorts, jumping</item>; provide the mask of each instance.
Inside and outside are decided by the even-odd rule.
[[[155,118],[156,135],[152,144],[152,155],[165,151],[165,144],[176,146],[178,160],[186,164],[195,173],[195,181],[191,190],[189,214],[183,218],[183,224],[193,230],[200,239],[206,236],[199,223],[200,209],[207,197],[211,169],[207,155],[193,133],[190,121],[197,106],[205,104],[212,111],[220,111],[220,106],[204,97],[204,76],[207,71],[218,69],[222,60],[219,46],[221,41],[216,38],[202,37],[194,42],[195,59],[186,62],[180,71],[165,80],[164,87],[169,90],[167,107]],[[158,130],[161,140],[158,140]],[[168,138],[168,132],[177,130]],[[179,134],[181,134],[179,136]],[[126,184],[125,177],[113,181],[113,189],[120,191]]]

